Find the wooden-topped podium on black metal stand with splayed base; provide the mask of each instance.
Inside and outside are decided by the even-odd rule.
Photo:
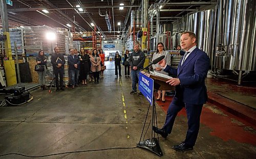
[[[151,104],[149,104],[145,122],[144,122],[143,129],[142,129],[141,136],[140,136],[140,141],[139,141],[139,143],[137,143],[137,147],[146,149],[146,150],[151,151],[159,156],[162,156],[163,153],[162,153],[162,150],[161,150],[159,142],[158,142],[159,141],[158,134],[157,134],[157,138],[155,138],[156,135],[155,135],[155,132],[153,131],[153,126],[156,125],[156,127],[158,127],[157,126],[157,113],[156,113],[156,94],[157,94],[158,90],[174,90],[175,87],[166,83],[168,78],[160,77],[157,75],[152,75],[150,73],[145,73],[143,71],[141,71],[141,73],[154,80],[154,97],[153,97],[152,118],[151,118],[151,138],[147,139],[147,140],[144,140],[144,138],[143,138],[143,141],[141,141],[141,138],[142,138],[142,135],[144,132],[144,128],[145,128],[145,124],[146,124],[146,120],[147,120],[147,116],[148,116],[148,112],[149,112],[148,110],[150,109],[150,106],[151,106]],[[148,127],[150,127],[150,124],[148,125]],[[154,132],[154,137],[153,137],[153,132]],[[146,132],[144,134],[144,137],[145,137],[145,135],[146,135]]]

